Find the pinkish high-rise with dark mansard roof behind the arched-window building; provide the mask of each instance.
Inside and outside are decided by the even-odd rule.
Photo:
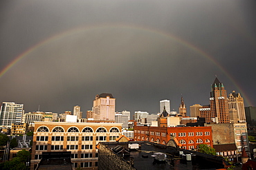
[[[93,100],[93,112],[97,120],[115,120],[116,98],[112,94],[97,94]]]

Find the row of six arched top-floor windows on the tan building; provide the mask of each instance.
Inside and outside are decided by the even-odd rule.
[[[49,132],[49,129],[48,127],[39,127],[37,129],[37,132]],[[55,127],[53,129],[52,132],[64,132],[64,129],[62,127]],[[68,129],[67,132],[80,132],[79,129],[77,127],[70,127]],[[90,132],[93,132],[93,129],[91,127],[85,127],[84,129],[82,129],[82,132],[85,132],[85,133],[90,133]],[[104,127],[99,127],[97,130],[96,130],[97,133],[104,133],[104,132],[107,132],[107,129],[105,129]],[[116,127],[112,127],[109,132],[120,132],[118,128]]]

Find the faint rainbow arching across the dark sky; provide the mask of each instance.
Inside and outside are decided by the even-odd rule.
[[[72,30],[67,30],[67,31],[61,32],[60,34],[55,34],[53,36],[48,37],[48,39],[45,39],[44,41],[41,41],[41,42],[37,43],[36,45],[33,45],[32,47],[28,48],[28,50],[19,54],[19,56],[17,56],[13,61],[11,61],[8,65],[6,65],[6,67],[4,67],[3,70],[1,70],[0,78],[4,74],[6,74],[6,72],[8,72],[8,70],[10,70],[14,65],[19,63],[19,61],[21,61],[21,59],[24,59],[24,57],[26,57],[28,54],[37,50],[38,47],[41,47],[42,45],[45,45],[46,43],[55,41],[57,39],[61,39],[64,36],[70,36],[72,34],[77,34],[79,32],[86,32],[89,30],[104,29],[104,28],[121,28],[121,29],[123,28],[123,29],[131,29],[131,30],[140,30],[143,32],[149,32],[151,34],[156,34],[158,36],[163,36],[163,37],[172,39],[176,43],[179,43],[179,44],[187,47],[188,49],[200,54],[200,56],[203,56],[206,59],[210,60],[212,63],[214,63],[214,65],[216,65],[219,68],[219,70],[221,70],[221,72],[226,74],[226,76],[230,79],[230,81],[232,83],[234,83],[235,87],[237,87],[239,92],[241,92],[243,94],[246,103],[248,103],[248,105],[252,105],[250,100],[248,100],[248,97],[246,96],[246,93],[244,92],[244,90],[240,87],[240,85],[238,83],[236,83],[235,78],[232,78],[231,74],[229,74],[229,72],[224,67],[222,67],[220,63],[218,63],[216,60],[214,60],[214,58],[212,56],[210,56],[210,54],[201,50],[199,47],[196,47],[196,45],[193,45],[193,44],[189,43],[188,41],[185,41],[185,40],[179,38],[178,36],[175,36],[174,34],[163,32],[162,30],[153,30],[153,29],[149,29],[149,28],[143,28],[138,25],[100,24],[100,25],[91,25],[91,26],[81,26],[79,28],[73,28]]]

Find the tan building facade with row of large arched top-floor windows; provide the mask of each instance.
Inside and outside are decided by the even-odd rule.
[[[71,151],[73,168],[98,169],[98,142],[116,141],[121,135],[118,123],[35,122],[30,169],[35,169],[43,152],[55,151]]]

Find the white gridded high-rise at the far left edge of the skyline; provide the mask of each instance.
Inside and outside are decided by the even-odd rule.
[[[10,128],[12,123],[21,123],[23,106],[14,102],[1,103],[0,127]]]

